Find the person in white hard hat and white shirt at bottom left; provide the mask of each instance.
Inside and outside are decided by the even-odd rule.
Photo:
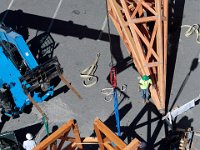
[[[31,133],[26,134],[26,141],[23,142],[23,148],[25,150],[33,150],[36,146],[35,141],[33,140],[33,135]]]

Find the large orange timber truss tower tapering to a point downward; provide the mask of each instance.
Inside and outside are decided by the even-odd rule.
[[[165,110],[168,0],[107,0],[108,13],[140,75],[149,75],[151,97]]]

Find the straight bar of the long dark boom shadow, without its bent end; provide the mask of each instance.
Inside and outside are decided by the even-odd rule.
[[[24,27],[63,36],[73,36],[79,39],[88,38],[109,42],[109,34],[102,33],[101,30],[88,28],[86,25],[75,24],[72,21],[58,19],[53,19],[52,21],[52,18],[25,13],[22,10],[6,10],[0,14],[0,20],[16,31],[18,31],[17,28]],[[49,29],[49,27],[51,28]],[[100,34],[101,39],[99,39]],[[117,35],[110,34],[110,36],[112,39],[119,39]]]

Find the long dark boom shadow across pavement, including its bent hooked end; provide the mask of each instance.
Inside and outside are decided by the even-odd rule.
[[[110,53],[117,62],[116,67],[119,70],[118,73],[130,66],[135,69],[133,63],[130,63],[130,57],[125,59],[123,58],[120,47],[120,37],[118,35],[105,33],[102,30],[88,28],[84,25],[78,25],[72,21],[62,21],[25,13],[22,10],[6,10],[0,14],[0,20],[5,25],[13,28],[16,32],[23,35],[25,40],[28,39],[28,29],[31,28],[45,33],[55,33],[63,36],[77,37],[78,39],[88,38],[110,42],[112,47]],[[35,42],[35,40],[31,41]],[[36,52],[37,51],[35,51],[35,53]]]

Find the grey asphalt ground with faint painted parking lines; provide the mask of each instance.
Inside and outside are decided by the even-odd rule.
[[[74,118],[78,122],[81,136],[90,136],[93,133],[93,121],[98,117],[116,131],[113,101],[105,102],[105,96],[101,94],[103,88],[110,87],[107,77],[111,53],[107,24],[104,28],[105,1],[1,0],[0,4],[1,14],[4,15],[9,9],[5,22],[28,28],[27,41],[34,38],[37,33],[47,31],[53,23],[50,32],[58,43],[54,55],[58,57],[66,79],[83,97],[82,100],[78,99],[71,90],[63,92],[64,83],[60,82],[56,87],[60,89],[58,95],[39,104],[49,117],[50,130],[53,126],[60,126],[70,118]],[[186,29],[178,28],[181,24],[199,23],[200,4],[196,0],[171,0],[169,6],[171,17],[169,18],[168,109],[180,106],[200,93],[199,45],[195,42],[195,35],[186,38],[184,37]],[[20,15],[16,10],[23,12]],[[123,68],[117,75],[118,87],[127,85],[125,94],[119,97],[122,139],[129,143],[132,138],[138,137],[147,142],[149,149],[159,149],[160,141],[165,137],[163,122],[153,105],[145,106],[140,103],[141,98],[137,91],[138,73],[133,65],[127,66],[130,62],[127,50],[111,22],[110,25],[114,43],[113,55],[117,65]],[[101,29],[104,29],[105,33],[100,38]],[[91,65],[97,53],[100,53],[95,73],[99,78],[98,83],[85,88],[82,85],[80,72]],[[192,64],[197,66],[191,67]],[[197,105],[177,118],[179,127],[192,126],[194,130],[199,130],[198,107]],[[1,132],[16,130],[20,133],[20,138],[24,139],[25,133],[30,131],[37,135],[36,140],[39,142],[45,136],[45,129],[41,128],[40,122],[41,116],[33,107],[29,114],[22,114],[20,118],[10,119],[2,125]],[[195,137],[193,149],[199,148],[198,137]]]

